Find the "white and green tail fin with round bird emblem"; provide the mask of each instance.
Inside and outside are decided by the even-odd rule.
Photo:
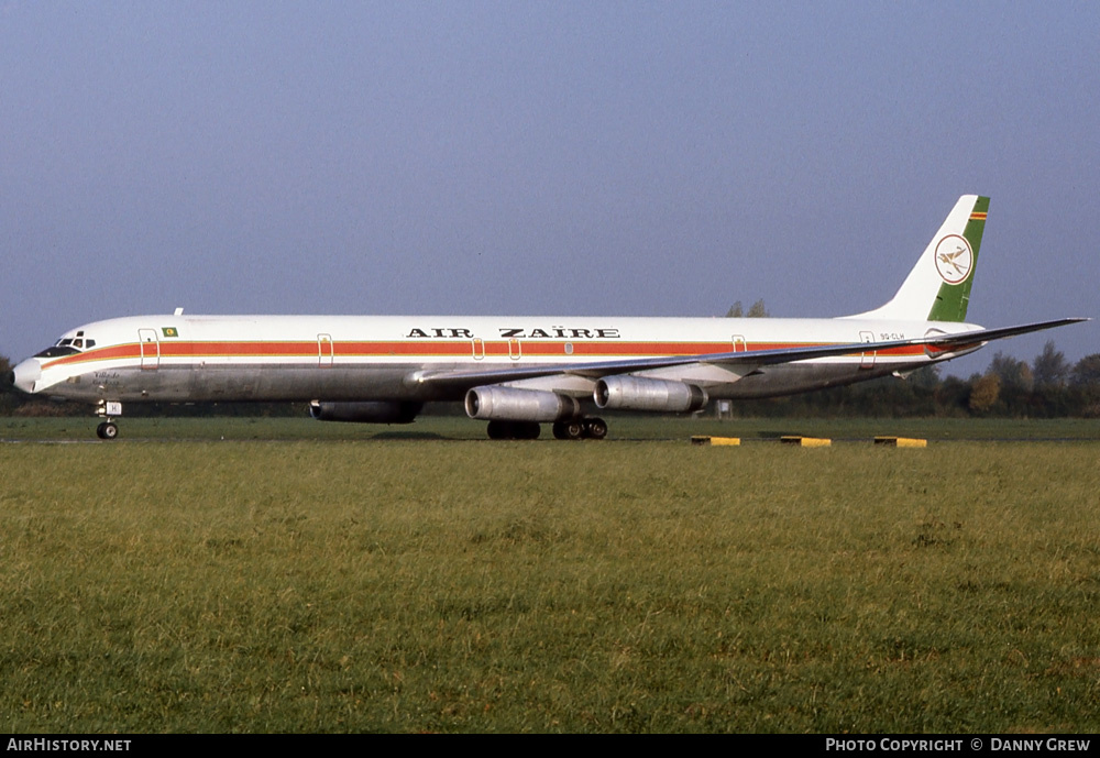
[[[987,212],[988,197],[960,197],[893,299],[858,318],[966,320]]]

